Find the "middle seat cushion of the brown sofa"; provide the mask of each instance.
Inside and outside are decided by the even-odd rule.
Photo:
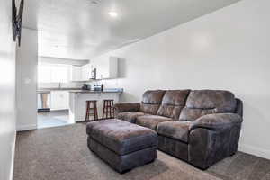
[[[144,115],[137,118],[136,124],[157,130],[157,124],[163,121],[173,121],[173,119],[158,115]]]

